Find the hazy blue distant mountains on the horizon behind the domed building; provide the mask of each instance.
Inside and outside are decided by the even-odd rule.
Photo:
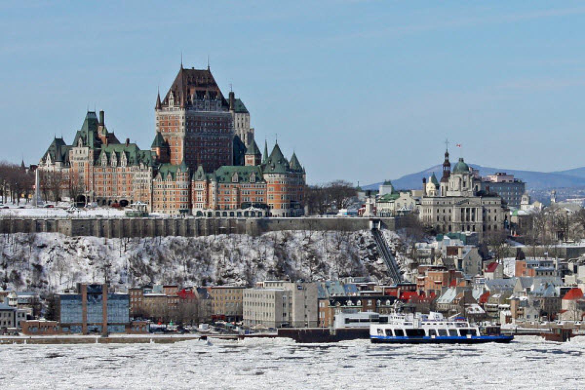
[[[469,164],[475,169],[479,169],[481,176],[487,176],[494,172],[507,172],[514,175],[515,178],[521,179],[526,183],[526,189],[547,189],[547,188],[567,188],[567,187],[585,187],[585,167],[573,168],[566,171],[558,172],[538,172],[538,171],[522,171],[510,168],[494,168],[483,167],[477,164]],[[419,189],[422,188],[422,178],[435,175],[438,180],[441,180],[442,165],[433,165],[432,167],[404,175],[401,178],[392,180],[392,184],[396,189]],[[378,189],[382,182],[362,186],[363,189]]]

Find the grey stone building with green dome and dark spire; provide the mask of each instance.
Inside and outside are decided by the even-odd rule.
[[[441,181],[423,179],[419,216],[437,232],[477,232],[479,236],[504,229],[507,219],[498,195],[481,191],[481,182],[463,158],[453,166],[445,151]]]

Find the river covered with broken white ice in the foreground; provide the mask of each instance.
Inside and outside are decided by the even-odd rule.
[[[0,389],[577,389],[585,337],[383,346],[285,339],[0,346]]]

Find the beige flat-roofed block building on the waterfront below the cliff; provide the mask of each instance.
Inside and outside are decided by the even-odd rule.
[[[312,282],[265,281],[243,294],[243,325],[318,326],[317,285]]]

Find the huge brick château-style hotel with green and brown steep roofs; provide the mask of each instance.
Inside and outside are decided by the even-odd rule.
[[[43,177],[59,174],[63,196],[150,212],[198,216],[301,216],[305,169],[278,144],[260,152],[250,114],[222,94],[209,67],[183,65],[166,95],[157,96],[149,150],[121,143],[104,112],[87,112],[72,144],[55,137],[40,159]],[[44,180],[41,185],[49,185]]]

